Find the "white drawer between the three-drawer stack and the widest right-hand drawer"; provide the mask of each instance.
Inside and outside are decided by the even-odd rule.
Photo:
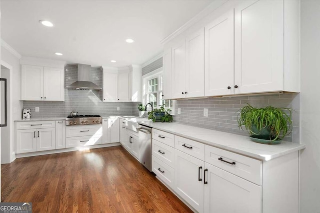
[[[204,144],[175,136],[175,149],[204,161]]]

